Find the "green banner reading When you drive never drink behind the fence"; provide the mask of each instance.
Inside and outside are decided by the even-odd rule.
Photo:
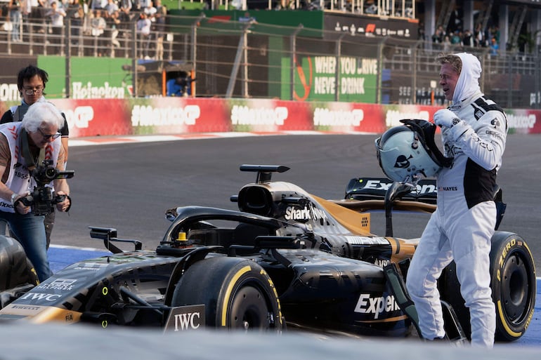
[[[282,99],[291,97],[290,64],[289,58],[282,59]],[[299,56],[294,65],[294,100],[376,102],[377,59]]]

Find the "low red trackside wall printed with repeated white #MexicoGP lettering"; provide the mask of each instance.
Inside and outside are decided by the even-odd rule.
[[[441,107],[272,99],[53,99],[70,138],[211,132],[383,133],[400,119],[432,119]],[[3,114],[15,102],[0,102]],[[506,109],[509,133],[541,133],[541,110]]]

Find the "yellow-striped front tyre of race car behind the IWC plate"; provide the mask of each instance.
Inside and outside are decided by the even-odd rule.
[[[195,262],[178,281],[171,305],[204,305],[209,328],[276,333],[285,328],[273,281],[244,258]]]

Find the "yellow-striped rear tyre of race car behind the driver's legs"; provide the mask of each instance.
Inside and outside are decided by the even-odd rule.
[[[490,251],[490,275],[496,306],[495,340],[517,340],[533,318],[537,291],[533,255],[521,236],[511,232],[495,232]],[[442,279],[445,284],[440,289],[442,298],[455,309],[469,337],[469,310],[459,293],[454,262],[445,268]]]

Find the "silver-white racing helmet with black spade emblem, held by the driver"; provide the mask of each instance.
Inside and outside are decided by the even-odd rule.
[[[436,146],[436,125],[426,120],[404,119],[375,141],[379,166],[387,178],[416,182],[419,175],[431,178],[442,167],[450,166]]]

